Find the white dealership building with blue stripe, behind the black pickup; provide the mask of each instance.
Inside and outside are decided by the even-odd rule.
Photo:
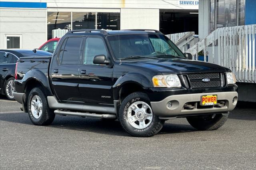
[[[38,48],[80,29],[198,34],[198,0],[0,0],[0,49]]]

